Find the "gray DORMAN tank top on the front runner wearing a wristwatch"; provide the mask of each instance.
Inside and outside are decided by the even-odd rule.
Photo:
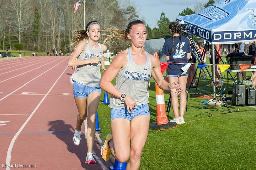
[[[137,65],[133,62],[130,55],[130,48],[128,50],[127,64],[120,69],[116,76],[116,88],[123,93],[128,94],[137,105],[147,104],[148,102],[148,86],[151,77],[151,62],[146,52],[147,61],[145,65]],[[127,107],[124,101],[114,97],[110,98],[108,105],[113,109],[121,109]]]

